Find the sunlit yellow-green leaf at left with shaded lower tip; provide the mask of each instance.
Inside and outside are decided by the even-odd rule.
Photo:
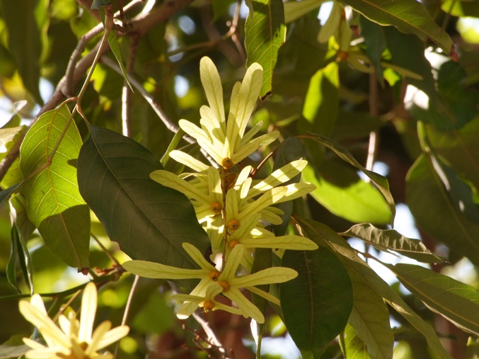
[[[90,211],[81,198],[75,168],[81,137],[68,107],[42,114],[20,148],[28,216],[45,245],[71,267],[88,267]],[[68,129],[66,127],[68,126]],[[66,133],[62,138],[62,132]],[[61,142],[60,142],[61,141]],[[60,142],[51,164],[53,149]]]

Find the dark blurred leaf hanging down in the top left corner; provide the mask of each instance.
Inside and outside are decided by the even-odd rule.
[[[40,31],[35,18],[38,0],[2,0],[3,19],[8,27],[8,47],[15,59],[23,85],[42,104],[38,83],[42,53]],[[41,4],[41,1],[40,1]]]

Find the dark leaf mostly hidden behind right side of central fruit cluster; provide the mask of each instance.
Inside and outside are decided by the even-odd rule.
[[[274,156],[274,165],[273,171],[278,170],[279,168],[283,167],[283,165],[287,165],[292,161],[296,161],[296,159],[302,159],[305,157],[305,149],[302,147],[302,144],[299,139],[296,137],[288,137],[276,150],[276,155]],[[298,183],[301,179],[301,174],[298,176],[290,179],[284,185],[289,185],[290,183]],[[286,201],[281,202],[278,204],[274,204],[274,207],[281,209],[284,213],[280,215],[281,219],[283,220],[282,224],[274,225],[274,235],[282,236],[285,235],[287,226],[289,226],[289,219],[291,218],[293,212],[293,202]]]

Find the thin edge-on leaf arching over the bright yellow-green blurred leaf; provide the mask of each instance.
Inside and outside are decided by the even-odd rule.
[[[376,172],[366,170],[362,165],[359,164],[356,159],[354,159],[354,157],[352,157],[352,155],[350,154],[350,152],[348,152],[348,150],[346,150],[346,148],[344,148],[337,142],[334,142],[333,139],[329,139],[328,137],[324,137],[315,133],[310,134],[308,138],[314,139],[323,146],[326,146],[327,148],[335,152],[335,154],[338,155],[339,158],[350,163],[351,165],[354,165],[355,168],[361,170],[366,176],[371,179],[371,181],[376,185],[376,187],[378,187],[379,191],[383,194],[385,200],[389,204],[389,210],[391,211],[391,225],[393,225],[394,216],[396,215],[396,207],[394,206],[393,196],[389,191],[389,183],[387,183],[387,179],[380,174],[377,174]]]

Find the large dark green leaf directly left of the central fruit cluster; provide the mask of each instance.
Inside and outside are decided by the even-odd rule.
[[[133,139],[92,127],[78,159],[80,193],[131,258],[194,268],[181,244],[205,252],[209,239],[191,202],[151,180],[151,172],[161,169],[155,155]]]

